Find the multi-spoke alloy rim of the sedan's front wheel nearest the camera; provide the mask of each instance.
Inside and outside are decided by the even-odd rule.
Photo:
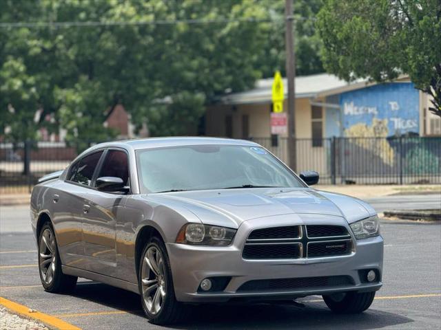
[[[145,307],[151,314],[158,314],[165,302],[167,283],[164,267],[161,251],[150,246],[143,257],[141,286]]]

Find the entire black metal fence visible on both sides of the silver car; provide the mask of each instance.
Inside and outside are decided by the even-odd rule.
[[[286,138],[252,139],[283,162]],[[0,194],[29,192],[90,142],[0,143]],[[441,184],[441,137],[333,137],[296,140],[297,172],[317,170],[322,184]]]

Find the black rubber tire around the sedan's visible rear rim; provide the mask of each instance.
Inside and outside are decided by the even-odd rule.
[[[47,245],[45,247],[45,243],[43,241],[43,234],[48,234],[48,232],[52,235],[53,242],[52,242],[52,258],[43,258],[41,256],[41,251],[46,250],[46,252],[49,251],[47,248]],[[63,274],[63,271],[61,270],[61,259],[58,252],[58,244],[57,239],[54,235],[54,228],[52,228],[52,225],[50,222],[46,222],[43,227],[41,228],[40,235],[39,235],[39,244],[38,244],[38,262],[39,262],[39,274],[40,274],[40,280],[41,284],[43,285],[45,291],[52,292],[52,293],[68,293],[72,292],[75,289],[76,286],[76,280],[78,277],[76,276],[70,276]],[[45,272],[42,263],[45,263],[50,259],[54,266],[52,267],[52,279],[50,281],[47,281],[48,278],[45,279]],[[52,262],[50,262],[50,266],[52,266]],[[49,270],[48,267],[48,270]],[[46,272],[48,272],[48,270]]]

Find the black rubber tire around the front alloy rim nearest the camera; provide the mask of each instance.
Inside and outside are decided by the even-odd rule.
[[[162,298],[161,309],[156,313],[152,314],[147,308],[145,303],[145,298],[143,294],[143,259],[147,253],[147,250],[150,248],[158,249],[163,257],[163,281],[165,282],[165,297]],[[151,272],[151,271],[150,271]],[[152,273],[150,273],[152,274]],[[174,295],[174,286],[173,286],[173,278],[172,278],[172,269],[170,267],[170,259],[168,258],[167,250],[165,249],[165,245],[161,239],[158,237],[152,237],[150,241],[145,244],[143,249],[143,253],[141,254],[141,260],[139,261],[139,292],[141,296],[141,305],[143,307],[143,311],[145,316],[155,325],[171,325],[176,322],[183,320],[185,316],[186,306],[183,303],[179,303],[176,300],[176,296]]]

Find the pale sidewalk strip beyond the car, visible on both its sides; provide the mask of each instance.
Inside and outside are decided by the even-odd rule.
[[[339,194],[349,195],[357,198],[382,197],[390,195],[413,195],[413,194],[433,194],[441,193],[441,185],[378,185],[378,186],[362,186],[362,185],[320,185],[312,186],[317,190],[325,190],[338,192]],[[7,205],[23,205],[30,203],[30,194],[4,194],[0,195],[0,206]]]

